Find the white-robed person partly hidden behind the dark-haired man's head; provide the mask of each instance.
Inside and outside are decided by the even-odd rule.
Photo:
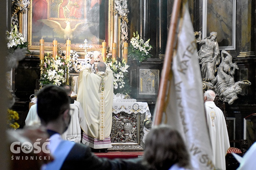
[[[72,87],[70,85],[64,85],[63,88],[68,95],[70,109],[73,113],[69,128],[61,135],[61,137],[69,141],[80,143],[81,129],[84,130],[86,126],[84,111],[81,104],[71,98]]]

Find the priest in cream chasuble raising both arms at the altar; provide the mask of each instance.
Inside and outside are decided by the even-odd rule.
[[[111,148],[110,133],[112,127],[113,107],[113,72],[102,56],[97,64],[97,73],[92,71],[90,64],[80,72],[77,101],[85,112],[86,128],[82,142],[91,147],[93,152],[107,152]]]

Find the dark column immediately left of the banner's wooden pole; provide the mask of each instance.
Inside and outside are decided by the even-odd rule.
[[[167,0],[157,0],[156,56],[163,58],[167,43]]]

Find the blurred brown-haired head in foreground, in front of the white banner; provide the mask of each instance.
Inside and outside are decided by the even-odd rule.
[[[183,170],[189,167],[189,154],[180,133],[166,124],[147,134],[143,164],[150,170]]]

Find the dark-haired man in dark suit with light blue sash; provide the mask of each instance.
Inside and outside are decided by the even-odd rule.
[[[44,86],[37,95],[38,116],[49,134],[48,149],[54,160],[42,169],[145,169],[140,158],[108,159],[94,155],[86,145],[63,140],[71,119],[69,99],[65,90],[55,85]]]

